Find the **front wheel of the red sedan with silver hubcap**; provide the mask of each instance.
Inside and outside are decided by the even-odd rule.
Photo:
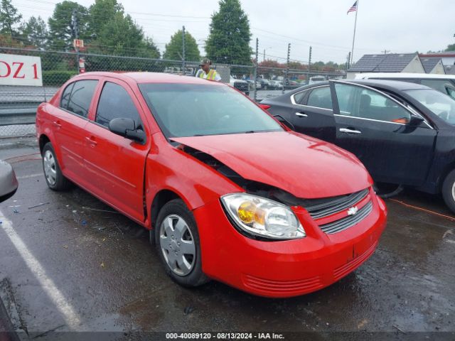
[[[171,200],[161,208],[155,240],[166,274],[173,281],[186,287],[201,286],[209,281],[202,271],[196,220],[182,200]]]

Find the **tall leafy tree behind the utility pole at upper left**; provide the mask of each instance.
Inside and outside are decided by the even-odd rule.
[[[73,25],[73,11],[77,18],[78,38],[89,43],[91,33],[88,31],[88,10],[73,1],[63,1],[55,5],[52,17],[49,18],[50,47],[55,50],[70,50],[73,48],[73,39],[76,38]]]

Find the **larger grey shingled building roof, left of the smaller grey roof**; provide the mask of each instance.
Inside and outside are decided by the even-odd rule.
[[[350,72],[401,72],[417,53],[389,53],[363,55],[348,71]]]

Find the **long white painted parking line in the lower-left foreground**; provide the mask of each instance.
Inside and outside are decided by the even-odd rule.
[[[6,219],[4,214],[0,211],[0,227],[1,229],[6,232],[6,235],[13,243],[14,247],[21,255],[23,261],[25,261],[28,269],[32,272],[32,274],[36,277],[38,282],[41,284],[41,288],[43,291],[48,295],[50,301],[53,302],[55,307],[60,311],[63,315],[66,325],[70,330],[81,330],[81,319],[80,316],[77,315],[75,309],[73,308],[68,301],[66,301],[65,296],[58,290],[57,286],[52,279],[50,279],[43,266],[41,266],[38,259],[36,259],[31,251],[27,249],[26,244],[23,243],[21,237],[18,236],[16,231],[14,231],[13,223]]]

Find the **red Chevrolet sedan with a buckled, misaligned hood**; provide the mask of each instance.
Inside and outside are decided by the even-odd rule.
[[[384,202],[353,154],[289,131],[228,85],[86,73],[38,108],[52,190],[72,183],[150,230],[183,286],[319,290],[373,254]]]

